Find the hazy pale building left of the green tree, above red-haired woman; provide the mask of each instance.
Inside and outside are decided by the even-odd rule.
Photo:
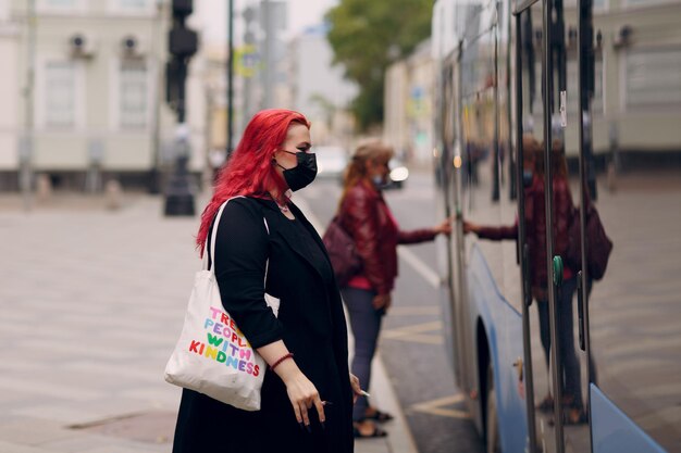
[[[282,61],[284,77],[276,88],[278,105],[304,113],[312,122],[317,144],[339,144],[352,139],[354,121],[348,112],[357,86],[344,78],[343,67],[333,65],[325,24],[306,28],[288,46]]]

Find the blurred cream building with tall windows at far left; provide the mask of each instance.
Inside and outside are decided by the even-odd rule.
[[[17,188],[21,156],[58,188],[96,190],[108,178],[154,186],[174,158],[164,93],[170,1],[5,0],[0,8],[1,189]],[[187,81],[195,172],[206,163],[203,66],[195,56]]]

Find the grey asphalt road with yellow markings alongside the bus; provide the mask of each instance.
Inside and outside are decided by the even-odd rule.
[[[325,226],[339,194],[337,181],[319,180],[296,197],[304,198]],[[442,221],[435,218],[434,183],[428,174],[412,175],[403,189],[386,191],[385,197],[401,229]],[[421,453],[482,452],[445,354],[438,291],[424,277],[429,268],[435,270],[435,252],[434,243],[409,246],[400,252],[399,278],[393,307],[384,319],[380,354]]]

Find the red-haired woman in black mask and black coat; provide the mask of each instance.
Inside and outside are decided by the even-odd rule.
[[[290,201],[317,175],[309,129],[297,112],[256,114],[203,211],[197,244],[203,250],[218,228],[222,304],[270,366],[258,412],[184,389],[174,453],[352,451],[361,390],[348,370],[340,295],[321,238]],[[265,292],[280,299],[277,316]]]

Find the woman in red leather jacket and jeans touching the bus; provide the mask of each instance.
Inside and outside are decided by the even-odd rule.
[[[391,306],[391,291],[397,277],[397,244],[433,240],[451,232],[448,221],[428,229],[401,231],[388,209],[381,188],[386,185],[393,149],[380,142],[360,146],[346,171],[339,217],[350,234],[362,261],[362,272],[342,288],[355,336],[352,373],[369,387],[371,360],[382,316]],[[385,436],[374,421],[392,416],[369,405],[366,397],[355,404],[355,437]]]

